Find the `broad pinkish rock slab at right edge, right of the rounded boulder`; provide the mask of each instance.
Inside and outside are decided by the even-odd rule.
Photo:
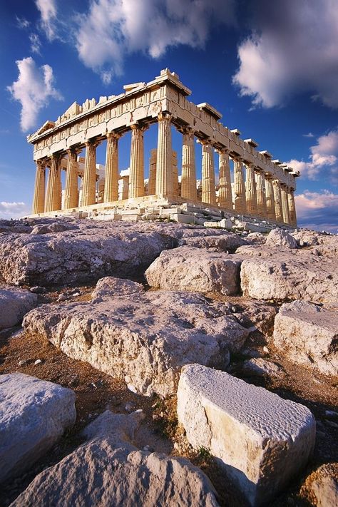
[[[245,258],[240,270],[243,295],[254,299],[290,301],[338,299],[337,261],[315,250],[244,246],[236,255]]]

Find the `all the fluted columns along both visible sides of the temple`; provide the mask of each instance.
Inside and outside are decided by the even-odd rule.
[[[144,143],[143,134],[147,127],[135,124],[131,126],[129,198],[144,195]],[[195,144],[191,128],[182,128],[182,177],[181,197],[187,200],[198,200],[196,188]],[[103,202],[118,200],[118,133],[107,134],[106,147],[106,181]],[[217,205],[215,185],[215,165],[213,146],[210,140],[200,140],[202,145],[202,201]],[[83,173],[83,192],[81,205],[96,203],[96,147],[95,140],[86,142],[86,158]],[[232,203],[232,185],[230,179],[230,158],[226,149],[219,153],[219,190],[218,205],[228,210],[235,209],[241,215],[249,213],[268,220],[296,225],[295,199],[293,190],[282,185],[279,180],[263,173],[253,165],[245,165],[243,160],[234,160],[234,188]],[[67,150],[67,170],[64,208],[78,206],[78,167],[79,150]],[[34,192],[33,212],[50,212],[61,210],[61,155],[51,156],[49,178],[45,200],[46,163],[38,160],[36,167],[36,186]],[[158,116],[158,148],[150,158],[148,195],[178,195],[177,162],[173,159],[171,143],[171,117],[168,113]]]

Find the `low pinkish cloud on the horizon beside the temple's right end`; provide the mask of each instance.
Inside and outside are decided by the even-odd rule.
[[[338,194],[329,190],[310,192],[295,196],[297,222],[308,229],[338,232]]]

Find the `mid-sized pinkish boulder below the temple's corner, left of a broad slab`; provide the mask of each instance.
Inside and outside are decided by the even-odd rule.
[[[237,295],[242,257],[201,248],[178,247],[162,252],[145,271],[150,287]]]

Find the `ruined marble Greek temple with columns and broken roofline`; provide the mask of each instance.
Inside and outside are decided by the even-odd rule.
[[[74,102],[57,121],[44,123],[27,138],[34,145],[36,162],[33,214],[188,203],[190,208],[295,227],[299,173],[272,160],[268,151],[258,151],[255,140],[242,140],[239,130],[223,126],[222,115],[209,103],[196,106],[188,101],[190,93],[176,73],[165,69],[153,81],[126,85],[124,93],[100,97],[98,103],[95,99],[82,106]],[[144,133],[154,123],[158,142],[150,150],[145,179]],[[181,154],[173,151],[173,128],[182,135]],[[130,165],[120,173],[119,140],[128,131]],[[106,163],[98,165],[96,148],[103,142]],[[197,149],[202,155],[199,180]],[[62,170],[66,171],[64,188]]]

